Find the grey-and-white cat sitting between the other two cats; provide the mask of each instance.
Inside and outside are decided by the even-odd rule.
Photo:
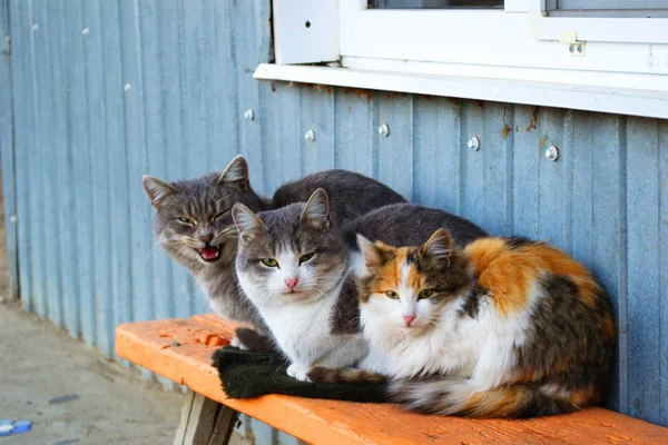
[[[301,379],[306,379],[311,366],[350,366],[366,352],[354,285],[354,258],[361,254],[345,245],[351,235],[354,238],[364,228],[384,240],[424,241],[434,227],[449,227],[458,239],[487,236],[465,219],[413,204],[382,207],[338,231],[327,209],[322,189],[306,205],[257,216],[240,205],[233,209],[240,234],[239,283],[295,364],[291,375]],[[420,224],[406,230],[404,221],[411,216],[419,217]]]

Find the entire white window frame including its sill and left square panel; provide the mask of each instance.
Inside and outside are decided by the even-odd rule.
[[[505,0],[504,10],[370,10],[366,0],[274,0],[276,65],[261,66],[255,77],[363,87],[375,73],[397,91],[513,101],[511,91],[524,89],[518,102],[668,118],[668,18],[547,17],[546,1]],[[306,29],[310,17],[317,19]],[[294,69],[326,61],[343,69]],[[481,98],[449,82],[493,88]],[[426,83],[430,91],[415,91]],[[569,89],[589,96],[582,92],[579,106],[560,103]]]

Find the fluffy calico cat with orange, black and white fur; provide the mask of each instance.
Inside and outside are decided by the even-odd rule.
[[[444,229],[419,247],[358,243],[371,349],[360,367],[391,376],[394,400],[470,417],[556,415],[600,402],[615,322],[596,279],[563,251],[524,238],[461,249]]]

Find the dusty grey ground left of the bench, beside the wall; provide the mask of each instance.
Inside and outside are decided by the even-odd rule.
[[[32,421],[0,445],[171,444],[181,395],[22,310],[9,300],[7,270],[0,214],[0,418]]]

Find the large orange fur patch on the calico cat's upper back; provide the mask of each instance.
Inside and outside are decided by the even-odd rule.
[[[465,254],[479,275],[479,284],[490,290],[490,297],[503,316],[527,308],[531,286],[543,273],[570,278],[582,301],[591,308],[600,294],[584,266],[551,246],[527,245],[510,249],[503,238],[485,238],[469,245]]]

